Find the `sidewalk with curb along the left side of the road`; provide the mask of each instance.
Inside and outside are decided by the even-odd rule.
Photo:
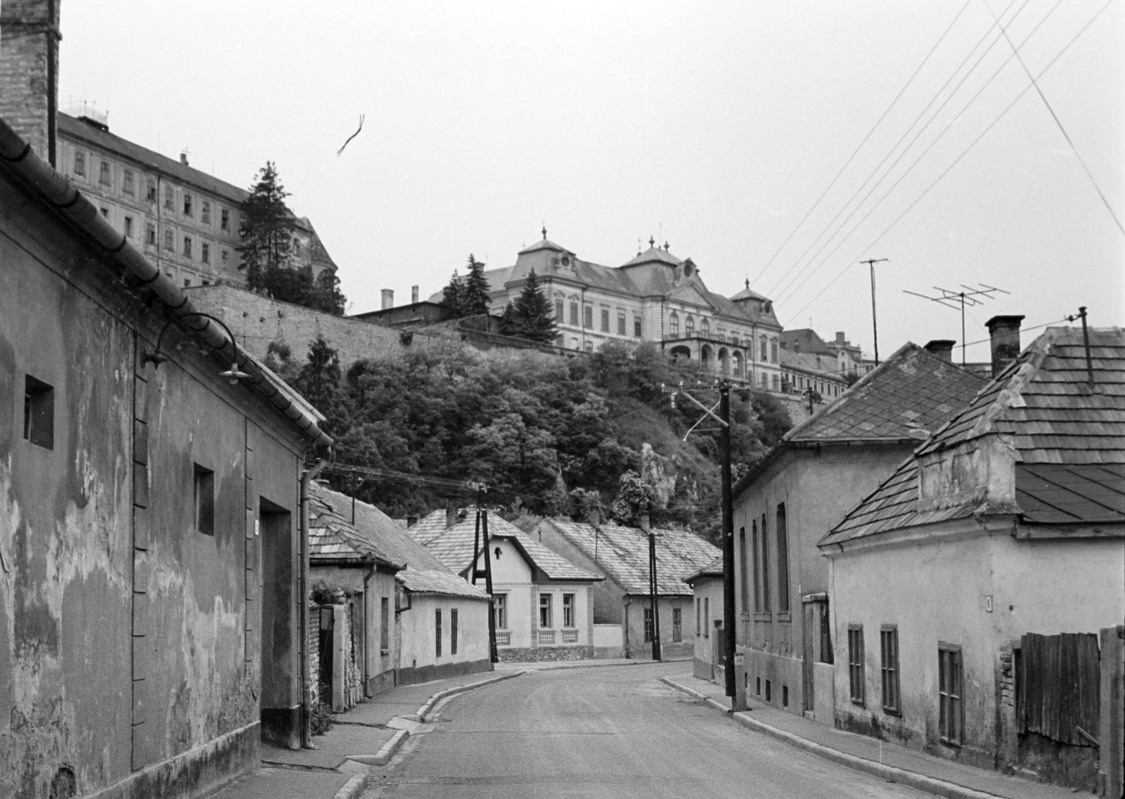
[[[370,766],[386,764],[442,699],[523,673],[504,669],[392,688],[333,716],[332,729],[313,738],[315,750],[262,744],[262,768],[208,799],[354,799]]]

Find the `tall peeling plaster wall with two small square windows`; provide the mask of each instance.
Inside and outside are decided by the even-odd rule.
[[[295,564],[299,435],[174,335],[141,366],[159,306],[3,180],[0,264],[0,796],[46,799],[64,769],[75,796],[212,790],[256,766],[255,512],[288,511]],[[28,374],[53,387],[51,448],[24,438]],[[194,463],[214,471],[214,535]],[[295,608],[289,573],[272,593]]]

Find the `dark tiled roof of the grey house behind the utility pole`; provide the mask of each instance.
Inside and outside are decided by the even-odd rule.
[[[907,442],[933,433],[984,385],[979,375],[907,343],[839,399],[785,434],[786,442]]]

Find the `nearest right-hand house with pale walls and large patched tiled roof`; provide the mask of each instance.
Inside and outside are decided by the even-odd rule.
[[[819,542],[836,724],[1092,787],[1098,636],[1125,618],[1125,332],[1048,328],[933,433]]]

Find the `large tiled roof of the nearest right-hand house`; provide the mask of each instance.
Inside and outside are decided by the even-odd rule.
[[[1025,524],[1125,523],[1125,333],[1048,328],[820,542],[822,546],[966,518],[972,502],[918,508],[918,457],[1001,433],[1016,448],[1016,503]]]

